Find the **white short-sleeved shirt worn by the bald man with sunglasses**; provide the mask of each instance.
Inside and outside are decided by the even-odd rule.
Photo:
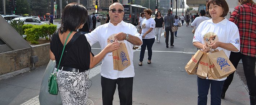
[[[111,21],[111,20],[110,20]],[[112,34],[117,34],[119,32],[128,33],[134,35],[142,41],[140,34],[137,32],[137,28],[131,23],[120,22],[116,26],[112,23],[106,23],[98,26],[91,33],[85,34],[88,42],[92,46],[94,43],[99,42],[101,49],[107,46],[107,39]],[[101,65],[101,76],[110,79],[117,78],[128,78],[134,77],[134,66],[133,66],[133,44],[124,40],[126,44],[127,51],[129,54],[131,65],[125,68],[123,71],[114,70],[112,52],[107,53],[102,60]]]

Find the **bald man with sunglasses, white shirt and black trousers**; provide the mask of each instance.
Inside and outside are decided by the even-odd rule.
[[[113,97],[118,85],[120,105],[132,105],[132,88],[134,66],[133,46],[141,46],[142,38],[131,23],[123,22],[124,7],[120,3],[109,6],[110,22],[98,26],[91,33],[85,34],[91,46],[99,42],[101,49],[107,46],[107,39],[115,34],[115,39],[124,40],[129,54],[131,65],[123,71],[114,70],[112,52],[106,54],[101,65],[101,87],[103,105],[112,105]]]

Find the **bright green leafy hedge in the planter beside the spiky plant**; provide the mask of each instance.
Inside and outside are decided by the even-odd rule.
[[[44,25],[23,25],[25,35],[27,35],[26,39],[31,42],[31,44],[38,44],[39,38],[45,38],[46,40],[50,40],[52,38],[52,34],[56,31],[57,25],[53,24],[44,24]],[[48,37],[49,35],[49,37]]]

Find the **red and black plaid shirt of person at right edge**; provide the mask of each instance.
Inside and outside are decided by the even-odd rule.
[[[240,52],[256,57],[256,5],[246,3],[235,7],[229,19],[238,25],[240,34]]]

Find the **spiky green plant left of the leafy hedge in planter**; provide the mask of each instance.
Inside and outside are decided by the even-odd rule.
[[[23,35],[22,27],[24,25],[24,21],[22,20],[11,20],[10,25],[19,33],[19,35]]]

